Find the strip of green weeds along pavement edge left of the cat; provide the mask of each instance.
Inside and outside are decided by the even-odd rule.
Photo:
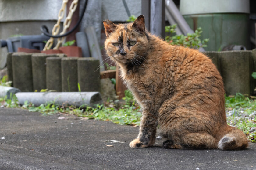
[[[97,105],[94,108],[84,106],[79,108],[74,106],[64,107],[56,105],[54,102],[48,102],[35,107],[34,104],[25,102],[21,108],[28,109],[29,111],[33,112],[40,112],[44,115],[65,113],[74,114],[79,117],[88,117],[89,119],[112,121],[121,125],[139,125],[140,117],[142,116],[140,107],[135,104],[134,100],[132,100],[133,97],[129,91],[126,91],[126,95],[127,96],[124,98],[126,104],[120,108],[116,108],[113,102],[108,102],[106,104],[107,106]],[[6,107],[9,107],[9,105]]]

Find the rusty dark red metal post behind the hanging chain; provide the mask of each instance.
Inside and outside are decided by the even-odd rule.
[[[72,1],[73,0],[69,0],[67,3],[66,16],[68,16],[68,14],[69,14],[69,7],[70,7]],[[69,30],[71,30],[76,25],[76,22],[79,20],[79,3],[80,3],[80,1],[77,2],[77,8],[76,8],[76,11],[73,13],[72,21],[71,21],[70,27],[67,29],[67,32]],[[83,14],[81,14],[81,15],[83,15]],[[73,32],[71,32],[69,35],[66,36],[66,42],[76,39],[76,32],[79,32],[79,27],[77,27]],[[76,42],[72,46],[76,46]]]

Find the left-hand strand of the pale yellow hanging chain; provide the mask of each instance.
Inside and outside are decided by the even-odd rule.
[[[61,8],[59,10],[59,14],[58,14],[58,21],[57,23],[53,26],[53,29],[52,29],[52,35],[57,35],[59,33],[59,29],[60,29],[60,21],[64,18],[64,14],[65,14],[65,9],[66,9],[66,6],[67,6],[67,3],[68,3],[68,0],[63,0],[62,1],[62,5],[61,5]],[[52,45],[53,45],[53,37],[51,37],[45,44],[44,46],[44,49],[43,51],[45,50],[49,50],[51,49]]]

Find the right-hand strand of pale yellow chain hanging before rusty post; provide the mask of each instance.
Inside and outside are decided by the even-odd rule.
[[[76,11],[77,3],[78,3],[78,0],[73,0],[73,2],[71,3],[71,5],[69,7],[69,14],[63,23],[63,30],[60,33],[60,35],[64,34],[67,31],[67,29],[69,28],[71,21],[72,21],[71,19],[72,19],[73,13]],[[59,47],[61,46],[64,39],[65,39],[65,37],[58,38],[58,42],[53,49],[59,49]]]

